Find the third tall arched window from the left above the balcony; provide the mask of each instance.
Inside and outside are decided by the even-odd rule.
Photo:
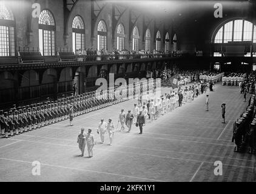
[[[75,16],[72,24],[73,52],[84,50],[84,21],[81,16]]]

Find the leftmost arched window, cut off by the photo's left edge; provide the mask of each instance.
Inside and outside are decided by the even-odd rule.
[[[0,56],[15,56],[15,20],[13,14],[0,3]]]

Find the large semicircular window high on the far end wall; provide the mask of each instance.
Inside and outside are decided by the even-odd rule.
[[[256,25],[244,19],[235,19],[222,25],[214,37],[214,43],[237,41],[253,41],[256,43]]]

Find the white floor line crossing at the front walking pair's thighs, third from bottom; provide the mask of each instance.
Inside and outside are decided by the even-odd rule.
[[[45,138],[45,139],[59,139],[59,140],[64,140],[64,141],[74,141],[73,139],[62,139],[62,138],[49,138],[49,137],[44,137],[44,136],[35,136],[35,135],[21,135],[21,136],[31,136],[31,137],[37,137],[37,138]],[[119,144],[113,145],[114,147],[129,147],[129,148],[134,148],[138,149],[138,147],[134,146],[123,146]],[[204,155],[200,153],[189,153],[189,152],[178,152],[178,151],[172,151],[172,150],[160,150],[160,149],[148,149],[148,148],[141,148],[144,150],[152,150],[152,151],[161,151],[161,152],[175,152],[175,153],[184,153],[184,154],[189,154],[189,155],[200,155],[200,156],[209,156],[209,157],[214,157],[214,158],[227,158],[227,159],[237,159],[237,160],[242,160],[242,161],[251,161],[251,162],[256,162],[256,160],[251,160],[251,159],[241,159],[241,158],[232,158],[232,157],[224,157],[224,156],[215,156],[215,155]]]

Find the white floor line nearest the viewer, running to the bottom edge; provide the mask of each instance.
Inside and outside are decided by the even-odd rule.
[[[18,160],[18,159],[9,159],[9,158],[0,158],[0,159],[32,164],[32,162],[30,162],[30,161],[23,161],[23,160]],[[41,163],[41,165],[50,166],[50,167],[58,167],[58,168],[62,168],[62,169],[71,169],[71,170],[80,170],[80,171],[93,172],[93,173],[101,173],[101,174],[106,174],[106,175],[124,176],[124,177],[128,177],[128,178],[145,179],[145,180],[149,180],[149,181],[166,182],[166,181],[157,180],[157,179],[143,178],[143,177],[130,176],[130,175],[121,175],[121,174],[102,172],[102,171],[96,171],[96,170],[78,169],[78,168],[59,166],[59,165],[54,165],[54,164],[44,164],[44,163]]]

